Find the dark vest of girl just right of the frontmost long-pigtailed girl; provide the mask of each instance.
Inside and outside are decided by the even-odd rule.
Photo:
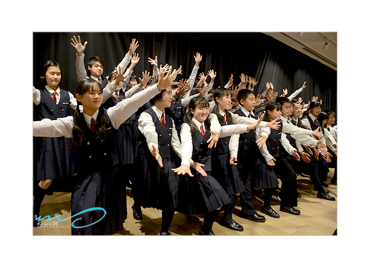
[[[158,149],[159,154],[162,158],[170,158],[171,157],[171,138],[172,138],[172,120],[169,115],[164,113],[166,124],[163,127],[162,123],[158,119],[157,114],[154,112],[152,108],[145,110],[144,112],[148,113],[151,118],[153,119],[155,130],[158,134]],[[140,131],[139,131],[140,132]],[[137,144],[137,154],[141,156],[148,156],[148,149],[147,140],[140,132],[138,136],[138,144]]]

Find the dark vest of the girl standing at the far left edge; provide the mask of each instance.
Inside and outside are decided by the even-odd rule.
[[[60,117],[70,115],[70,94],[68,91],[60,90],[60,100],[58,105],[54,102],[50,93],[46,89],[40,90],[40,104],[34,105],[34,121],[40,121],[44,118],[56,120]]]

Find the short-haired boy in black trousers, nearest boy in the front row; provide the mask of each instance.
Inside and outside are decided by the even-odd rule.
[[[253,110],[256,106],[256,95],[252,90],[241,89],[238,93],[238,101],[241,108],[235,112],[239,116],[252,117],[259,119],[257,113]],[[230,138],[230,157],[238,159],[237,168],[244,182],[245,191],[239,195],[242,205],[240,213],[241,218],[251,220],[253,222],[263,223],[265,217],[257,214],[252,201],[251,189],[251,172],[254,169],[258,146],[256,144],[256,130],[251,130],[248,133],[234,134]]]

